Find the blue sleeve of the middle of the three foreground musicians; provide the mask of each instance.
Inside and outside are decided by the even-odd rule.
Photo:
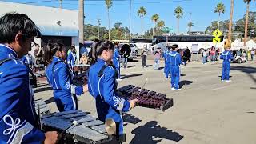
[[[82,86],[75,86],[71,82],[70,72],[66,66],[62,66],[58,71],[59,84],[62,90],[70,92],[70,94],[81,95],[83,94]]]

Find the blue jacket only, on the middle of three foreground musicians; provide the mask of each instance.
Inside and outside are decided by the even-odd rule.
[[[46,67],[46,77],[54,89],[54,98],[70,98],[71,94],[83,93],[82,86],[73,85],[72,74],[62,58],[54,56],[53,61]]]

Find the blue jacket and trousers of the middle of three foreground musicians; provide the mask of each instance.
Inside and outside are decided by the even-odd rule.
[[[46,68],[47,80],[54,90],[54,101],[59,111],[78,109],[77,96],[83,93],[82,86],[72,83],[72,74],[62,58],[55,57]]]

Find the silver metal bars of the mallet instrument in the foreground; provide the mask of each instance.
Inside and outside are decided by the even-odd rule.
[[[84,143],[102,143],[111,141],[111,137],[106,134],[103,122],[96,120],[89,114],[81,110],[71,110],[51,114],[42,117],[42,127],[48,130],[66,130],[72,122],[76,120],[77,125],[71,126],[66,131],[67,138],[73,138],[78,142]]]

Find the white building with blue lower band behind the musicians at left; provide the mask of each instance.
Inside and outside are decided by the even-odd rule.
[[[35,39],[35,42],[40,46],[45,47],[49,40],[51,42],[62,42],[67,47],[74,44],[79,55],[78,10],[65,10],[13,2],[0,2],[0,7],[0,16],[10,12],[28,15],[42,33],[42,38]],[[34,55],[33,52],[31,54]]]

